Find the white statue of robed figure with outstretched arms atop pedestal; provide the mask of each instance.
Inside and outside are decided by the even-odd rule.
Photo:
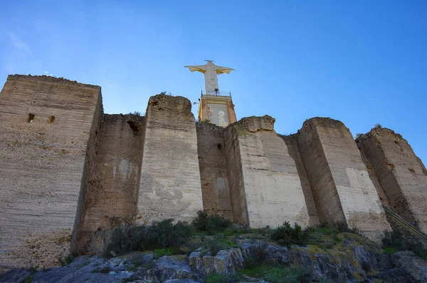
[[[219,92],[218,88],[218,75],[221,73],[230,73],[231,71],[235,71],[233,68],[216,66],[212,63],[211,60],[206,60],[208,63],[205,65],[199,66],[184,66],[185,68],[189,68],[191,72],[199,71],[204,73],[205,76],[205,88],[206,94],[216,94]]]

